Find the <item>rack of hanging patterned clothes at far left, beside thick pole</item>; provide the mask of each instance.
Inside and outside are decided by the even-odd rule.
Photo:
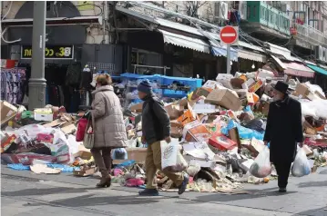
[[[1,69],[1,100],[21,104],[25,94],[26,69]]]

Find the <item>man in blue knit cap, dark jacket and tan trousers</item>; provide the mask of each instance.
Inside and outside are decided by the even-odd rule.
[[[156,173],[161,170],[160,141],[171,142],[169,114],[152,92],[151,83],[148,80],[138,85],[138,96],[143,103],[142,111],[142,142],[148,143],[146,158],[147,189],[139,191],[141,196],[157,196]],[[182,194],[189,183],[189,176],[182,173],[162,171],[179,187],[179,195]]]

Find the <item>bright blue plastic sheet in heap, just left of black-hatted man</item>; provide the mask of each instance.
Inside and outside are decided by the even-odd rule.
[[[235,121],[230,120],[227,127],[221,129],[221,133],[225,135],[229,135],[229,131],[233,128],[237,127],[240,134],[240,139],[252,139],[253,137],[257,140],[263,140],[263,133],[259,133],[257,131],[251,130],[249,128],[241,126],[239,123],[235,123]]]

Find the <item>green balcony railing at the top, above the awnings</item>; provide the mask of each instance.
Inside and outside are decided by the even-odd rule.
[[[290,35],[291,20],[284,12],[263,2],[249,1],[247,4],[247,20],[249,22],[260,23],[281,34]]]

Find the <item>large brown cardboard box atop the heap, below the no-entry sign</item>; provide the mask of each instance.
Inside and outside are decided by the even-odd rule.
[[[240,99],[228,89],[213,90],[205,102],[220,105],[232,111],[239,111],[241,107]]]

